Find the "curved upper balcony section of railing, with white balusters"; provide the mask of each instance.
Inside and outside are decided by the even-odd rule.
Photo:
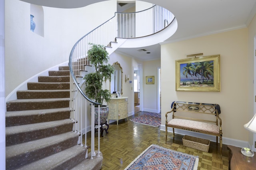
[[[116,12],[118,38],[139,38],[150,36],[166,28],[174,15],[161,6],[132,13]]]

